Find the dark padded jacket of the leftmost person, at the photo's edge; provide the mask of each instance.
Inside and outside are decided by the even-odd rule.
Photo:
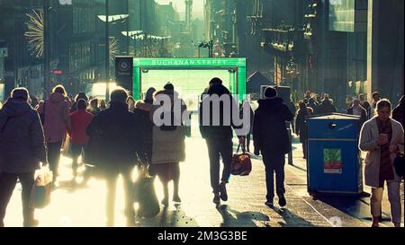
[[[0,172],[32,172],[47,162],[38,113],[26,101],[9,99],[0,110]]]

